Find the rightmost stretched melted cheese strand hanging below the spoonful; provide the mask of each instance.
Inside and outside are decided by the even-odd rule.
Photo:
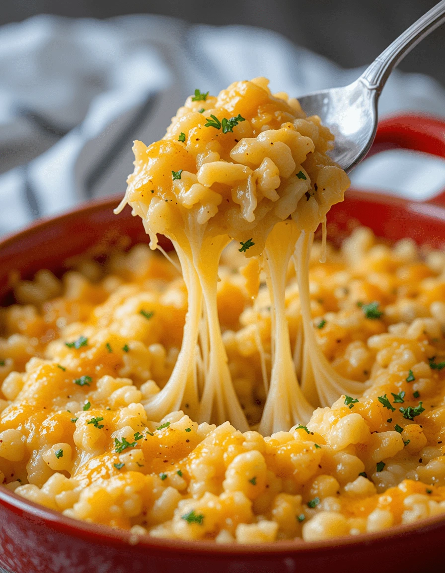
[[[312,394],[315,384],[321,406],[331,406],[342,394],[359,396],[365,390],[361,382],[340,376],[329,364],[317,343],[312,326],[311,297],[309,295],[309,254],[313,233],[301,231],[295,250],[295,264],[300,291],[301,315],[305,335],[305,393]],[[313,383],[311,378],[313,378]]]

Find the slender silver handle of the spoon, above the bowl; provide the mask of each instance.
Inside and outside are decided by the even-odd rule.
[[[445,22],[445,0],[442,0],[431,10],[428,10],[418,21],[414,22],[400,34],[392,44],[383,50],[374,62],[361,74],[360,80],[368,87],[380,94],[390,73],[406,56],[408,52],[424,37]]]

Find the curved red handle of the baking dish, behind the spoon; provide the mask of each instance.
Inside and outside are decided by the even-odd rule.
[[[445,119],[422,114],[387,117],[379,121],[369,155],[402,147],[445,158]],[[427,203],[445,205],[445,191]]]

